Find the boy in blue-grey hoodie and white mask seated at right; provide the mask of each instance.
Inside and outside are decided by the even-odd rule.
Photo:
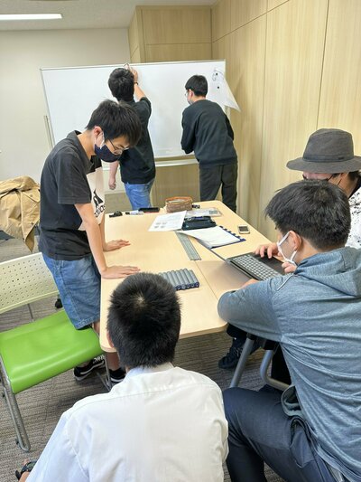
[[[265,462],[284,480],[361,481],[361,251],[345,247],[347,195],[301,181],[275,194],[265,213],[297,268],[225,293],[218,313],[279,342],[292,385],[282,400],[269,390],[224,392],[231,479],[264,482]]]

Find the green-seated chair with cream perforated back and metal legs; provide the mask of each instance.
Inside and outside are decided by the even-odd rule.
[[[42,254],[0,263],[0,314],[57,296]],[[33,320],[33,317],[32,317]],[[0,332],[0,388],[24,451],[30,442],[15,395],[102,354],[92,328],[76,330],[64,310]]]

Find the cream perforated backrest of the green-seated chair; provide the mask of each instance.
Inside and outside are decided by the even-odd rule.
[[[57,294],[42,253],[0,263],[0,313]]]

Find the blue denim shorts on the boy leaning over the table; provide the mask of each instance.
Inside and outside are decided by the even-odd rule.
[[[42,257],[52,277],[71,323],[80,329],[100,319],[100,275],[91,254],[81,260],[54,260]]]

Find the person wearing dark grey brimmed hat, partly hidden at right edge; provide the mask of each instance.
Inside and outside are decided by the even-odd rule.
[[[351,212],[351,229],[346,246],[361,248],[361,156],[354,155],[352,135],[337,128],[321,128],[310,135],[302,157],[287,163],[292,170],[302,171],[304,180],[320,179],[337,184],[348,197]],[[272,258],[279,248],[276,243],[259,246],[255,254]],[[285,262],[286,273],[296,269],[293,263]],[[229,325],[227,334],[232,336],[232,345],[227,354],[218,361],[219,368],[236,367],[245,345],[245,333]],[[257,348],[255,346],[255,348]],[[290,383],[287,367],[284,365],[280,350],[273,356],[272,376],[284,383]]]

